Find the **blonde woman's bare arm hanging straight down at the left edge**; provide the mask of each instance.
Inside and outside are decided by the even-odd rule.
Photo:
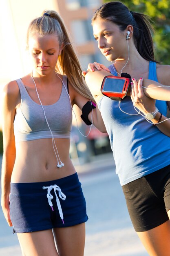
[[[13,134],[13,120],[17,105],[19,89],[16,82],[10,82],[4,87],[2,96],[2,132],[3,132],[3,159],[1,171],[1,206],[4,216],[12,226],[9,216],[10,181],[15,162],[15,138]]]

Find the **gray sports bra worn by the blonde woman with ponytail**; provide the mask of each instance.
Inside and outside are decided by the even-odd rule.
[[[53,105],[43,106],[47,121],[54,138],[70,139],[72,126],[72,108],[67,94],[67,77],[63,83],[60,98]],[[29,96],[21,79],[16,80],[21,94],[20,108],[14,119],[15,142],[51,138],[42,106]]]

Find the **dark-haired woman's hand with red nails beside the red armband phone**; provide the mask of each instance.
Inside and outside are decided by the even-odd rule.
[[[136,108],[144,115],[155,111],[155,99],[146,97],[142,87],[143,79],[140,78],[138,83],[136,79],[132,79],[130,97]]]

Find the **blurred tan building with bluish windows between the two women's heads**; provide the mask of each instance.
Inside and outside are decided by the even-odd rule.
[[[91,26],[91,18],[95,10],[102,5],[102,0],[58,0],[56,2],[66,27],[71,31],[82,69],[86,70],[88,63],[94,61],[108,65],[106,58],[99,53]]]

